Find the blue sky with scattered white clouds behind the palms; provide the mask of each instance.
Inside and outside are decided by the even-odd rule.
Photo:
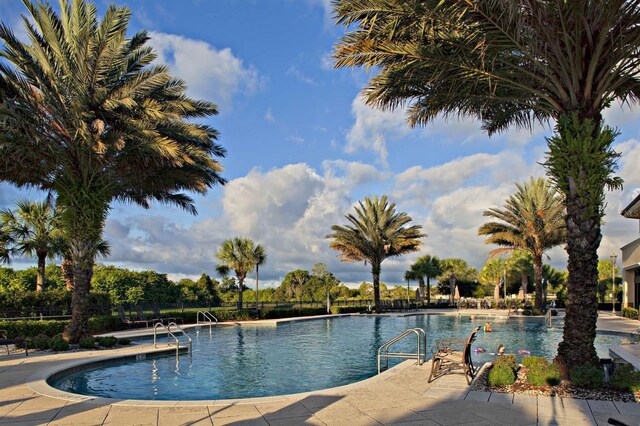
[[[99,0],[99,11],[110,2]],[[261,282],[278,285],[288,271],[317,262],[342,282],[371,280],[362,264],[341,263],[325,236],[366,196],[386,194],[428,235],[421,251],[382,264],[382,280],[402,284],[416,257],[460,257],[477,268],[491,246],[477,235],[482,212],[501,207],[515,182],[544,176],[552,125],[487,137],[472,119],[439,118],[409,128],[403,111],[369,108],[359,93],[371,73],[333,67],[343,34],[330,0],[129,0],[130,34],[146,29],[158,62],[186,80],[188,94],[219,106],[207,123],[227,149],[224,187],[195,196],[197,216],[154,204],[114,204],[103,263],[152,269],[172,279],[215,276],[215,253],[227,238],[262,244]],[[0,0],[0,21],[20,35],[19,0]],[[640,108],[613,105],[617,175],[624,189],[607,194],[601,258],[638,237],[620,211],[640,194]],[[0,184],[0,208],[44,194]],[[562,247],[546,263],[566,269]],[[31,266],[18,259],[15,267]],[[251,285],[251,280],[247,284]]]

